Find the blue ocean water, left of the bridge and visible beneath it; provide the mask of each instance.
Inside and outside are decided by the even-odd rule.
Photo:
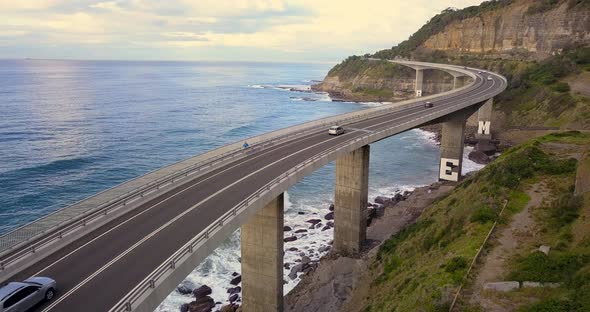
[[[270,130],[380,103],[332,102],[309,86],[333,64],[0,60],[0,234],[146,172]],[[467,149],[468,151],[469,149]],[[432,134],[412,130],[371,145],[370,199],[437,179]],[[481,166],[465,160],[465,171]],[[334,165],[286,194],[285,224],[323,217]],[[300,214],[303,213],[303,215]],[[285,262],[312,260],[332,230],[309,230]],[[188,277],[228,300],[240,272],[239,231]],[[285,270],[284,291],[299,281]],[[178,311],[173,292],[157,311]]]

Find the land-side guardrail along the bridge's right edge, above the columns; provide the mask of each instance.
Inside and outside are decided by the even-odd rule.
[[[502,77],[502,76],[500,76]],[[503,77],[502,77],[503,78]],[[505,80],[505,79],[503,79]],[[478,98],[474,99],[475,101]],[[455,105],[457,106],[457,105]],[[445,111],[450,111],[454,109],[453,107],[448,107],[443,110],[436,112],[437,114],[443,114]],[[434,114],[434,113],[433,113]],[[401,125],[398,125],[401,126]],[[192,254],[195,250],[197,250],[202,244],[204,244],[209,237],[224,226],[229,220],[236,217],[242,210],[245,210],[249,204],[256,201],[258,198],[264,196],[266,193],[270,192],[271,189],[275,186],[278,186],[282,182],[288,180],[292,176],[298,174],[300,171],[304,170],[306,167],[312,165],[314,162],[321,160],[324,157],[329,156],[332,153],[335,153],[339,149],[343,148],[344,146],[354,145],[358,142],[362,142],[367,140],[372,136],[379,136],[379,135],[386,135],[388,131],[391,131],[390,128],[383,129],[374,133],[365,134],[360,136],[352,141],[343,142],[341,144],[335,145],[332,148],[322,151],[319,154],[314,155],[311,158],[306,159],[305,161],[297,164],[295,167],[289,169],[285,173],[281,174],[280,176],[274,178],[269,183],[265,184],[263,187],[258,189],[252,195],[241,201],[239,204],[234,206],[232,209],[227,211],[221,217],[219,217],[215,222],[210,224],[205,230],[201,231],[197,236],[195,236],[192,240],[186,243],[183,247],[181,247],[178,251],[176,251],[172,256],[170,256],[166,261],[163,262],[160,266],[158,266],[151,274],[149,274],[142,282],[140,282],[131,292],[129,292],[123,299],[121,299],[113,308],[111,308],[111,312],[124,312],[124,311],[132,311],[134,304],[138,302],[142,298],[148,294],[152,289],[156,288],[158,282],[162,279],[162,277],[166,276],[170,271],[175,270],[176,265],[181,263],[185,260],[190,254]]]

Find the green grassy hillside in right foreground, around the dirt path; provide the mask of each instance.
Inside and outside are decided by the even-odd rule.
[[[590,135],[551,135],[508,150],[435,202],[414,225],[387,240],[372,266],[373,281],[362,303],[364,311],[448,311],[469,263],[505,201],[508,204],[501,223],[525,207],[529,201],[525,190],[539,180],[558,181],[554,183],[555,192],[561,195],[550,204],[543,220],[551,233],[556,233],[556,245],[561,249],[547,259],[538,254],[523,255],[514,263],[515,278],[535,280],[540,276],[563,282],[568,288],[556,290],[559,295],[523,307],[523,311],[541,311],[541,305],[565,303],[589,311],[590,228],[579,234],[583,238],[575,246],[568,233],[581,218],[580,211],[589,209],[590,201],[573,199],[571,184],[577,162],[554,154],[550,147],[556,143],[590,146]],[[551,275],[539,274],[539,270],[550,270]]]

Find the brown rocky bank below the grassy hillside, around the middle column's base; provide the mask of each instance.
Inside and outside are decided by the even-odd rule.
[[[434,200],[453,189],[453,182],[436,182],[398,193],[394,197],[374,199],[374,214],[367,222],[367,244],[356,257],[333,252],[315,262],[297,286],[285,296],[285,311],[336,312],[345,310],[353,290],[366,277],[373,257],[382,242],[412,224]],[[370,208],[371,209],[371,208]],[[370,221],[369,221],[370,220]]]

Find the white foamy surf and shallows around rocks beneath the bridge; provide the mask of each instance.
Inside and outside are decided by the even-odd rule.
[[[428,150],[438,149],[433,133],[423,130],[412,130],[409,133],[409,135],[407,133],[401,135],[402,141],[412,142],[409,146],[413,148],[426,148]],[[388,140],[384,140],[372,145],[372,148],[377,150],[371,155],[372,165],[375,162],[380,163],[380,161],[377,161],[374,158],[376,156],[382,157],[382,155],[379,154],[382,154],[381,148],[384,146],[381,145],[385,145],[387,142]],[[413,150],[413,148],[410,148],[410,150]],[[465,147],[463,157],[464,173],[476,171],[484,167],[483,165],[476,164],[467,158],[467,155],[472,150],[472,147]],[[387,160],[384,161],[387,162]],[[437,162],[438,158],[434,159],[433,164],[436,163],[437,165]],[[322,228],[327,222],[324,216],[329,212],[328,208],[334,199],[333,185],[326,184],[324,186],[318,186],[316,185],[317,183],[314,183],[313,181],[317,180],[318,177],[314,177],[316,175],[330,176],[321,179],[324,181],[330,181],[330,179],[333,180],[333,175],[330,174],[330,171],[333,172],[333,169],[333,164],[330,164],[318,170],[318,172],[314,173],[312,176],[305,178],[297,184],[293,190],[285,193],[285,225],[289,226],[292,230],[284,232],[284,236],[296,236],[297,240],[286,242],[284,244],[284,263],[292,265],[297,264],[297,261],[300,261],[303,255],[309,257],[312,261],[317,261],[329,252],[329,249],[323,249],[330,246],[330,243],[333,240],[334,231],[333,228],[327,230],[322,230]],[[430,169],[436,171],[437,167]],[[429,183],[435,182],[437,179],[436,175],[426,176],[425,174],[422,174],[421,178],[411,179],[413,181],[423,181],[422,183],[401,180],[396,181],[394,179],[380,178],[378,177],[380,173],[382,172],[376,172],[374,169],[371,170],[369,188],[369,200],[371,202],[377,196],[391,197],[397,193],[412,191],[416,187],[425,186]],[[416,174],[420,175],[418,172]],[[377,183],[371,183],[371,181],[374,180],[376,180]],[[314,192],[313,195],[310,195],[309,192],[306,192],[305,190],[307,187],[318,187],[318,189],[316,189],[316,192]],[[319,226],[310,227],[311,224],[306,222],[310,219],[321,219],[322,223]],[[295,233],[297,230],[305,230],[305,232]],[[230,284],[230,281],[233,278],[232,273],[240,272],[239,237],[238,230],[187,277],[187,280],[195,283],[197,286],[208,285],[212,288],[213,293],[211,297],[213,297],[216,302],[221,303],[217,305],[217,308],[220,308],[223,304],[229,303],[227,289],[233,287],[233,285]],[[291,279],[288,276],[290,269],[284,269],[283,273],[286,282],[283,291],[287,294],[297,285],[297,283],[299,283],[303,273],[298,273],[297,278],[295,279]],[[173,292],[156,311],[177,311],[180,305],[192,300],[193,297],[191,295],[181,295],[178,292]]]

